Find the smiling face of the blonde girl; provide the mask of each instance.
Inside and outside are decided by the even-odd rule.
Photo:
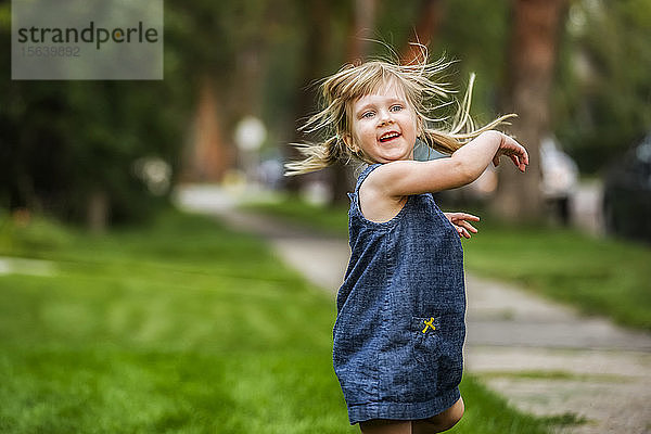
[[[352,133],[344,142],[376,163],[413,159],[417,116],[395,82],[359,98],[352,106]]]

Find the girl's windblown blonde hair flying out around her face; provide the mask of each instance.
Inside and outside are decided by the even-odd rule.
[[[405,92],[408,104],[417,116],[417,136],[430,148],[446,154],[451,154],[459,148],[477,137],[514,117],[514,114],[503,115],[475,129],[470,116],[474,74],[470,76],[468,90],[459,104],[457,114],[452,117],[447,130],[433,128],[434,124],[445,123],[447,118],[432,118],[427,114],[446,105],[456,103],[455,100],[443,104],[437,101],[450,99],[454,93],[448,84],[437,84],[433,80],[452,62],[443,58],[427,63],[426,49],[420,46],[422,60],[401,65],[399,61],[375,60],[358,65],[348,64],[336,74],[327,77],[320,86],[323,108],[311,116],[301,128],[301,131],[320,132],[326,139],[320,143],[292,143],[303,154],[304,158],[285,164],[285,176],[307,174],[323,169],[336,161],[348,163],[352,158],[372,164],[361,150],[353,150],[346,145],[343,137],[352,136],[354,102],[372,93],[395,80]]]

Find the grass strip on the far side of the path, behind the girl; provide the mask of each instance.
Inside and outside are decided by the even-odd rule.
[[[320,208],[289,199],[252,207],[347,237],[347,207]],[[478,215],[480,233],[463,240],[470,271],[651,331],[650,247],[570,229],[505,226],[490,215]]]

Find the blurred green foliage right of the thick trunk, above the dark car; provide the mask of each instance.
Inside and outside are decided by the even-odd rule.
[[[651,129],[649,40],[646,0],[572,3],[553,117],[583,171],[602,169]]]

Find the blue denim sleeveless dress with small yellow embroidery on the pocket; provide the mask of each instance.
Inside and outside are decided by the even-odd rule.
[[[350,261],[337,293],[334,370],[350,424],[431,418],[459,399],[465,339],[463,251],[432,194],[386,222],[349,193]]]

